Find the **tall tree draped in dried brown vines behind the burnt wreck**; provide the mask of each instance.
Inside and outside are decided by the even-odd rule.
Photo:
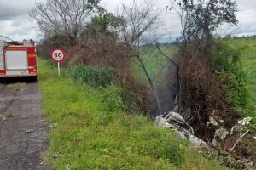
[[[214,56],[218,53],[213,31],[224,23],[236,25],[236,3],[227,1],[179,1],[172,3],[182,20],[182,37],[177,57],[180,59],[178,102],[184,116],[195,127],[195,133],[211,139],[214,131],[207,128],[213,111],[219,116],[234,115],[226,120],[233,124],[239,116],[226,101],[223,84],[215,74]]]

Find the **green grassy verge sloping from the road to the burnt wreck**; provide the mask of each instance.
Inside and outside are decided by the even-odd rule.
[[[224,169],[145,116],[107,112],[98,90],[38,61],[44,113],[56,123],[45,154],[53,169]]]

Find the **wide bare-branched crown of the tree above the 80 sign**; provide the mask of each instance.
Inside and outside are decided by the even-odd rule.
[[[56,32],[74,43],[83,23],[95,12],[99,0],[47,0],[38,2],[30,14],[45,37]]]

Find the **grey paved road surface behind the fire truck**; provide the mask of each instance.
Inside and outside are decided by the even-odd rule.
[[[47,131],[38,84],[0,84],[0,170],[47,169]]]

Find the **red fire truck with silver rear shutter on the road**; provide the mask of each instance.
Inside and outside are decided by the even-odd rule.
[[[0,77],[30,77],[38,75],[36,43],[0,41]]]

